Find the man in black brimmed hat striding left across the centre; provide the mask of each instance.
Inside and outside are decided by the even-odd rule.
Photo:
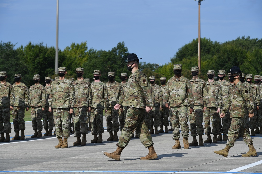
[[[152,103],[151,87],[148,84],[146,75],[138,69],[139,59],[136,54],[129,54],[127,57],[127,69],[132,72],[127,82],[127,90],[124,96],[119,100],[119,104],[114,109],[120,109],[127,106],[127,115],[124,128],[122,129],[117,149],[113,153],[104,154],[112,159],[120,160],[120,154],[128,145],[134,131],[136,130],[142,144],[148,148],[149,154],[141,157],[141,160],[150,160],[157,158],[157,154],[153,147],[152,137],[145,122],[144,111],[149,112]]]

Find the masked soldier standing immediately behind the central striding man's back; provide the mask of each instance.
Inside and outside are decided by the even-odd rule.
[[[149,111],[149,113],[145,113],[145,120],[146,124],[148,127],[150,127],[150,134],[159,134],[158,132],[158,126],[159,126],[159,110],[161,106],[163,105],[163,95],[161,92],[161,88],[159,85],[155,83],[156,77],[155,76],[150,76],[149,81],[150,81],[150,86],[154,91],[154,99],[155,102],[154,107],[152,110]],[[154,120],[153,120],[154,119]],[[155,132],[154,132],[154,127],[155,127]]]

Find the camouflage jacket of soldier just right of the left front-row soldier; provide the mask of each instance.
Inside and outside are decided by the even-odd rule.
[[[72,82],[75,87],[75,105],[74,107],[91,107],[92,105],[92,89],[90,82],[83,79]]]

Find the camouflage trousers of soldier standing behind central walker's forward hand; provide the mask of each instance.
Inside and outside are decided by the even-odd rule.
[[[113,107],[108,108],[105,113],[106,117],[106,129],[108,132],[118,132],[119,131],[119,121],[118,121],[118,110],[115,110]],[[113,122],[113,123],[112,123]]]

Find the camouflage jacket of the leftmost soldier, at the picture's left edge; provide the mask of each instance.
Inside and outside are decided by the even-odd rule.
[[[15,104],[15,92],[13,86],[5,82],[0,83],[0,107],[10,107]]]

